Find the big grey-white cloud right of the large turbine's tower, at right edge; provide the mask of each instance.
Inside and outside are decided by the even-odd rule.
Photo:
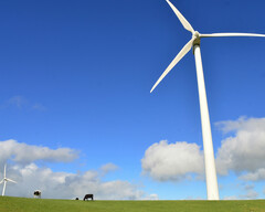
[[[229,170],[246,180],[264,179],[265,168],[265,118],[240,118],[235,121],[222,121],[218,126],[224,132],[235,132],[222,141],[218,150],[216,167],[220,174]]]

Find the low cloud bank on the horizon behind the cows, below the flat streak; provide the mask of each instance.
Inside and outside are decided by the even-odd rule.
[[[83,199],[86,193],[93,193],[96,200],[158,199],[157,194],[148,195],[128,181],[103,181],[100,171],[54,172],[31,163],[9,165],[7,173],[10,179],[18,182],[8,183],[7,195],[32,198],[34,190],[41,190],[42,198],[49,199]]]

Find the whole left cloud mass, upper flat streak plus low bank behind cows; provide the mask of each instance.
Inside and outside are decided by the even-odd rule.
[[[3,177],[3,163],[8,162],[7,177],[18,183],[7,184],[6,194],[14,197],[33,197],[34,190],[42,191],[42,198],[49,199],[83,199],[86,193],[93,193],[96,200],[137,200],[158,199],[156,194],[147,194],[125,180],[104,181],[103,177],[118,167],[106,163],[98,170],[70,173],[53,171],[39,167],[35,161],[71,162],[78,155],[70,148],[50,149],[15,140],[0,141],[0,178]],[[2,187],[0,187],[2,189]]]

